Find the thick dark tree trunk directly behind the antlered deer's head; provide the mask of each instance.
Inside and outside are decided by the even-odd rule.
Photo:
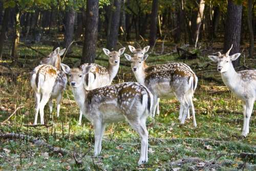
[[[241,22],[242,22],[242,5],[236,5],[232,0],[228,0],[227,6],[227,18],[224,36],[224,49],[223,52],[227,52],[233,44],[233,48],[230,51],[230,55],[240,52],[240,38],[241,38]],[[238,67],[240,65],[240,58],[233,61],[233,66]]]

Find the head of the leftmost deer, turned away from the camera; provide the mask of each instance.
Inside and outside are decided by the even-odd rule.
[[[51,52],[47,57],[43,58],[40,63],[41,64],[47,64],[56,67],[60,70],[60,56],[64,54],[65,48],[62,50],[59,50],[59,47],[56,48],[53,52]]]

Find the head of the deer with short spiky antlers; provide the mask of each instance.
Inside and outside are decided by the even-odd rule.
[[[230,67],[233,67],[231,61],[236,60],[241,55],[241,53],[229,55],[229,52],[232,49],[232,47],[233,45],[225,54],[221,54],[220,52],[218,52],[218,56],[208,56],[212,61],[218,62],[217,69],[220,73],[224,73],[228,71]]]

